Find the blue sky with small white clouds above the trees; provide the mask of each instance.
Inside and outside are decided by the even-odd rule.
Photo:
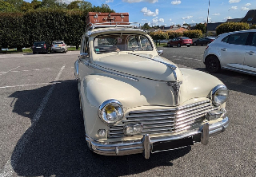
[[[30,0],[27,0],[28,2]],[[62,0],[72,2],[72,0]],[[128,12],[130,22],[152,25],[182,25],[206,22],[208,0],[86,0],[94,6],[106,3],[118,13]],[[256,9],[256,0],[210,0],[209,22],[243,18]]]

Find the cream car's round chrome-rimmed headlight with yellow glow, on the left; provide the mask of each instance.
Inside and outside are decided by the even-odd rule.
[[[122,104],[118,100],[106,100],[100,105],[98,116],[106,124],[115,124],[123,117]]]

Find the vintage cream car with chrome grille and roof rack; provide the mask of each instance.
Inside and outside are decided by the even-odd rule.
[[[90,150],[129,155],[183,148],[223,132],[228,89],[160,57],[145,30],[94,24],[74,63]]]

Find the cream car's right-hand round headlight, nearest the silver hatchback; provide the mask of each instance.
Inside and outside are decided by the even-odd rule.
[[[225,85],[217,85],[212,89],[212,101],[215,106],[226,102],[226,98],[229,95],[229,90]]]

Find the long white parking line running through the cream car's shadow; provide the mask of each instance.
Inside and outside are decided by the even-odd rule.
[[[63,69],[65,69],[65,65],[63,65],[62,69],[58,72],[58,75],[54,79],[54,82],[58,81],[59,77],[62,75]],[[26,147],[26,144],[29,142],[30,136],[34,132],[34,128],[36,127],[36,124],[38,123],[38,120],[40,119],[44,108],[46,108],[46,104],[50,98],[50,95],[54,91],[54,87],[55,87],[55,85],[51,85],[48,92],[46,93],[46,96],[42,99],[42,102],[41,102],[37,112],[35,112],[34,117],[31,120],[30,128],[27,129],[26,132],[23,134],[22,140],[20,140],[18,147],[16,147],[17,148],[16,153],[13,153],[13,155],[12,155],[13,163],[10,164],[10,159],[7,161],[6,165],[4,166],[3,170],[0,173],[1,177],[6,177],[6,176],[9,177],[9,176],[13,175],[14,171],[13,171],[12,166],[14,166],[14,168],[17,166],[17,164],[15,162],[18,162],[18,159],[20,159],[20,157],[22,156],[22,153]]]

